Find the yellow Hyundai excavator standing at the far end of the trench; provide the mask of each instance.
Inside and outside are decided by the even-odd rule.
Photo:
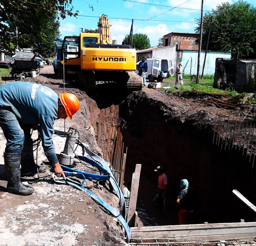
[[[66,36],[61,48],[59,74],[74,74],[81,89],[95,91],[96,82],[118,83],[128,91],[142,89],[136,70],[136,50],[130,45],[112,44],[111,24],[106,15],[99,16],[99,33],[81,32]],[[60,72],[61,71],[61,72]]]

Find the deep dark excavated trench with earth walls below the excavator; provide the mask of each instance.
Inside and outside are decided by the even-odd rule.
[[[256,203],[255,166],[239,145],[225,144],[225,139],[216,135],[213,144],[215,114],[170,105],[144,92],[135,92],[114,104],[102,97],[95,101],[97,116],[92,116],[91,110],[95,132],[100,127],[100,114],[120,126],[124,149],[128,149],[124,181],[131,180],[136,163],[142,165],[137,199],[141,225],[178,224],[175,200],[183,178],[198,191],[192,223],[254,221],[255,214],[232,190]],[[108,138],[109,130],[104,137]],[[106,145],[102,147],[104,151]],[[164,166],[168,177],[166,215],[152,204],[158,180],[154,169],[158,165]]]

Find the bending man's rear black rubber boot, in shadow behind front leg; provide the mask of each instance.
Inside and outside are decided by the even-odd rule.
[[[34,160],[33,141],[31,138],[25,139],[24,141],[20,164],[21,177],[35,175],[37,173],[37,168],[39,173],[46,172],[47,170],[47,165],[36,165]]]

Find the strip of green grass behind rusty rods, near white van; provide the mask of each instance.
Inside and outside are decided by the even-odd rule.
[[[178,85],[178,89],[175,89],[175,85],[170,84],[170,83],[165,83],[163,87],[170,86],[170,89],[163,89],[161,88],[160,90],[162,91],[170,91],[170,92],[178,92],[178,91],[200,91],[200,92],[213,92],[213,93],[223,93],[223,94],[229,94],[232,95],[233,97],[239,95],[236,91],[223,91],[219,90],[216,88],[209,88],[207,86],[213,86],[213,82],[209,83],[199,83],[197,84],[192,84],[192,83],[186,83],[184,85]]]

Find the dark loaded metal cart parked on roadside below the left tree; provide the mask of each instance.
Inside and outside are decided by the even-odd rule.
[[[18,51],[14,57],[14,63],[10,74],[12,79],[22,80],[26,77],[35,77],[39,73],[39,62],[35,60],[37,53]]]

